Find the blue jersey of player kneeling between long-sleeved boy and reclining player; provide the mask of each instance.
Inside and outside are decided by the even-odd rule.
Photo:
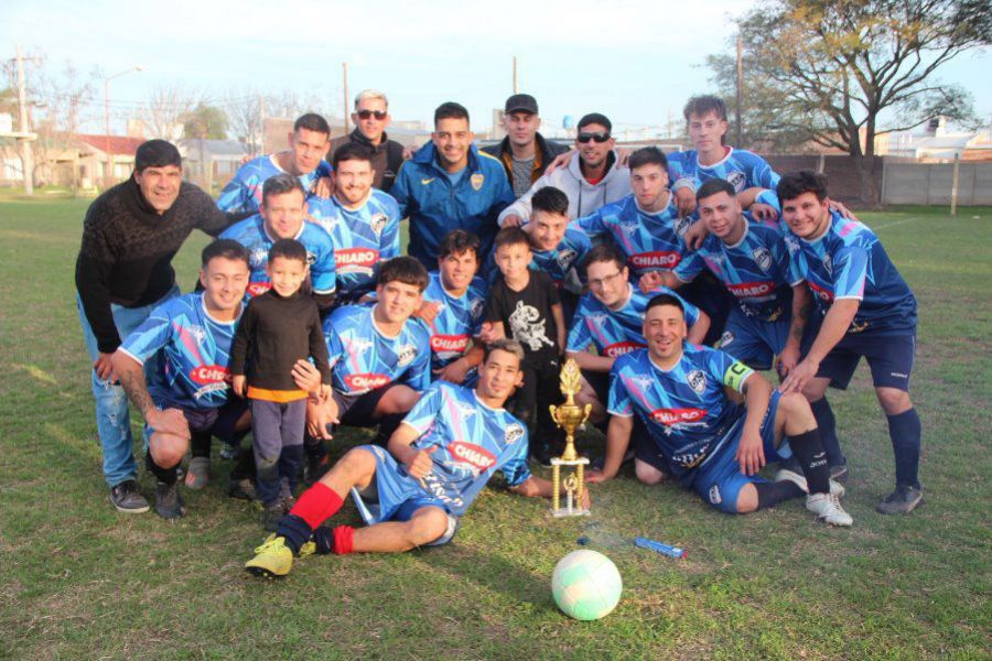
[[[374,305],[345,305],[324,319],[324,340],[333,368],[332,386],[342,394],[365,394],[388,383],[418,392],[431,382],[430,336],[408,319],[389,337],[373,318]]]

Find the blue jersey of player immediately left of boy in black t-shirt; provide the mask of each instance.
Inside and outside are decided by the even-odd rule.
[[[420,321],[431,336],[431,371],[441,371],[465,354],[482,329],[487,293],[485,281],[475,277],[465,293],[456,297],[444,289],[441,274],[431,271],[423,301],[438,303],[440,310],[430,324]]]

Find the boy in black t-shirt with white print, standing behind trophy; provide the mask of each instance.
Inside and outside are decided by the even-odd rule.
[[[549,466],[562,440],[548,410],[561,399],[558,380],[565,339],[561,301],[551,278],[530,270],[530,237],[522,229],[499,230],[494,253],[502,277],[489,290],[485,317],[492,332],[487,335],[511,337],[524,345],[524,383],[510,411],[530,427],[531,456]]]

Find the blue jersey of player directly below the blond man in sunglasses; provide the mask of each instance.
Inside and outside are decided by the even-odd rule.
[[[400,254],[399,206],[388,193],[373,188],[357,209],[336,197],[314,197],[308,216],[334,243],[338,299],[356,301],[374,290],[379,262]]]

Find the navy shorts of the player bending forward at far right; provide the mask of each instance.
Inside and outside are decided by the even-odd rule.
[[[809,344],[812,344],[809,339]],[[806,350],[804,350],[805,355]],[[872,370],[875,388],[895,388],[909,392],[909,375],[916,355],[916,334],[869,335],[849,333],[820,362],[817,377],[830,379],[830,386],[847,390],[858,364],[864,357]]]

